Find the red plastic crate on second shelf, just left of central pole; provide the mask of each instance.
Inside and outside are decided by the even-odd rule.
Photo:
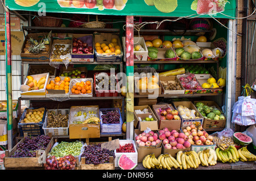
[[[116,97],[118,96],[118,92],[119,92],[119,86],[118,87],[118,90],[96,90],[96,75],[98,75],[100,73],[94,73],[93,75],[93,87],[94,87],[94,90],[95,90],[95,94],[97,97]],[[110,73],[106,73],[108,75],[110,75]],[[117,80],[117,85],[118,85],[118,79],[117,77],[115,77],[115,79]]]

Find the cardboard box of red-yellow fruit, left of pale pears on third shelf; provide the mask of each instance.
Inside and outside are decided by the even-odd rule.
[[[171,108],[171,110],[175,110],[175,108],[171,104],[159,104],[159,105],[153,105],[152,110],[155,114],[155,116],[158,119],[158,128],[168,128],[169,130],[172,129],[180,129],[181,119],[180,120],[163,120],[160,119],[160,113],[157,111],[159,108]]]

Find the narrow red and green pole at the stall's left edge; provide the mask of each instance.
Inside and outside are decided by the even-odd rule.
[[[5,8],[5,61],[6,61],[6,98],[8,149],[11,150],[13,130],[13,89],[11,76],[11,25],[10,12]]]

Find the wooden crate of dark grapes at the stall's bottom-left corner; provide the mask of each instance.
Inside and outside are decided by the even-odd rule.
[[[23,158],[12,158],[11,155],[16,151],[16,147],[20,142],[24,142],[24,138],[18,142],[17,145],[14,146],[11,150],[6,150],[5,158],[3,159],[3,163],[6,169],[24,169],[24,168],[43,168],[43,164],[46,161],[47,154],[51,150],[53,146],[53,137],[51,137],[51,141],[49,142],[47,148],[45,150],[37,150],[36,157],[23,157]],[[26,133],[24,134],[26,137]],[[41,154],[41,151],[43,154]]]

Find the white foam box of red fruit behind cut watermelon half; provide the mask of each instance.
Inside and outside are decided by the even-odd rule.
[[[115,153],[115,167],[118,167],[118,159],[122,154],[125,154],[126,157],[130,158],[134,163],[138,163],[138,151],[135,146],[134,140],[119,140],[119,145],[123,146],[125,144],[133,144],[133,148],[135,152],[131,153],[117,153],[117,150],[114,150]]]

